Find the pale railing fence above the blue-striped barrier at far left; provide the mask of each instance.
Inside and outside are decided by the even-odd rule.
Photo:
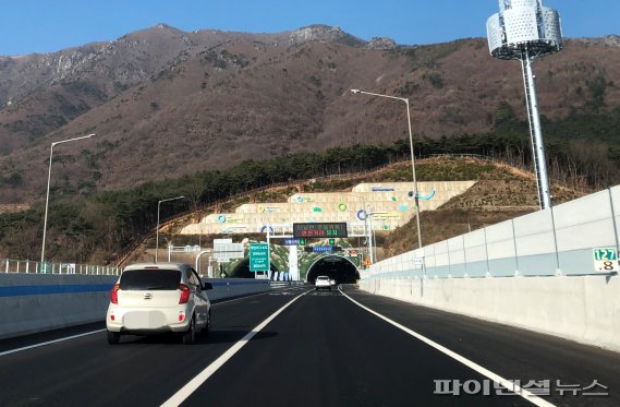
[[[109,276],[121,274],[122,268],[111,265],[93,265],[80,263],[35,262],[31,260],[0,260],[0,273],[22,274],[82,274]]]

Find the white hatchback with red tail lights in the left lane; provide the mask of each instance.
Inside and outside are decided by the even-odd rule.
[[[110,292],[106,315],[108,343],[121,335],[179,333],[183,344],[210,330],[211,304],[194,268],[182,263],[138,263],[127,266]]]

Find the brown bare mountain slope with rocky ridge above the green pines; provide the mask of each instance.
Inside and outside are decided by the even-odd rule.
[[[504,103],[526,117],[519,65],[494,60],[479,38],[409,47],[325,25],[247,34],[158,24],[32,58],[25,76],[7,81],[0,59],[0,169],[14,180],[0,179],[0,203],[40,199],[49,143],[86,133],[97,136],[57,153],[52,180],[66,192],[406,137],[404,105],[352,87],[410,98],[416,137],[488,132]],[[620,48],[568,40],[536,67],[543,115],[562,118],[598,96],[619,106],[619,65]],[[7,106],[20,83],[31,91]]]

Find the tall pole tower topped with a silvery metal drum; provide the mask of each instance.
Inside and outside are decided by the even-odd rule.
[[[543,7],[542,0],[499,0],[499,13],[487,21],[487,36],[491,56],[521,60],[538,202],[542,210],[549,208],[551,193],[532,65],[536,58],[562,49],[560,16],[556,10]]]

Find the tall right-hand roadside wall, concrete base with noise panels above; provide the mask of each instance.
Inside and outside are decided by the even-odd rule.
[[[620,351],[619,251],[620,185],[386,259],[361,287]]]

